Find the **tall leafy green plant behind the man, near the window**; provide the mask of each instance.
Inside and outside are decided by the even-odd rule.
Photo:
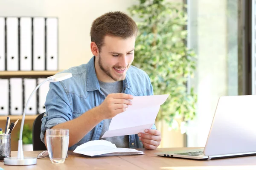
[[[154,94],[169,94],[157,121],[165,120],[174,129],[186,127],[195,118],[197,102],[193,88],[188,91],[186,86],[196,60],[194,51],[186,46],[184,8],[183,3],[165,0],[140,0],[139,5],[128,8],[138,18],[139,28],[133,65],[148,74]]]

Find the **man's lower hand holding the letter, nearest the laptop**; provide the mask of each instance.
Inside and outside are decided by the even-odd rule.
[[[145,133],[139,133],[138,136],[144,147],[149,150],[155,150],[162,140],[160,131],[154,129],[145,129]]]

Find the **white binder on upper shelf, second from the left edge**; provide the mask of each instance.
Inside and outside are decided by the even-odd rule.
[[[18,59],[18,18],[6,18],[7,71],[19,70]]]

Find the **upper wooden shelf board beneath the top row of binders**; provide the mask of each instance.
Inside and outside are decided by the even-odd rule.
[[[0,76],[52,76],[60,71],[0,71]]]

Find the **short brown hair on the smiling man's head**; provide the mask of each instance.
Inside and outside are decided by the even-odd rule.
[[[90,30],[91,41],[95,42],[99,50],[104,45],[106,35],[123,39],[137,36],[138,27],[134,20],[120,11],[108,12],[93,21]]]

